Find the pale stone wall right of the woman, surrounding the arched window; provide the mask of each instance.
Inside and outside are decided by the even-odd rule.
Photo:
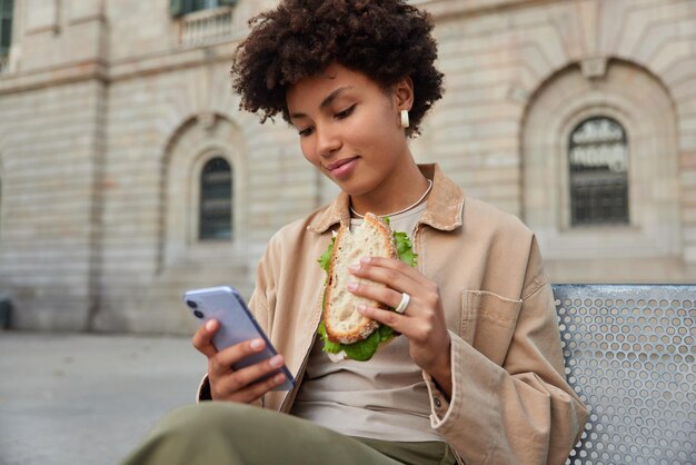
[[[520,216],[556,281],[693,281],[696,3],[421,3],[447,95],[416,151]],[[604,113],[629,129],[632,220],[570,228],[566,139]]]

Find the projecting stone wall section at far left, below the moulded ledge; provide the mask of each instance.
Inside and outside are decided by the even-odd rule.
[[[0,289],[27,328],[82,329],[92,305],[105,88],[2,96]]]

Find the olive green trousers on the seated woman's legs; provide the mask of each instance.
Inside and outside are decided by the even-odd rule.
[[[445,443],[345,436],[302,418],[228,402],[169,413],[123,465],[450,465]]]

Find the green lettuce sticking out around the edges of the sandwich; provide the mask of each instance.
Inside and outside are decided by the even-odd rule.
[[[384,217],[382,219],[385,220],[385,222],[389,224],[388,217]],[[331,238],[331,243],[329,244],[328,248],[324,251],[324,254],[321,254],[321,257],[317,260],[321,269],[324,269],[327,273],[327,279],[328,279],[329,264],[331,260],[331,253],[334,251],[335,241],[336,241],[336,238],[335,237]],[[417,265],[416,258],[418,257],[418,255],[414,254],[414,248],[412,248],[410,239],[408,238],[408,235],[406,233],[395,231],[394,241],[396,244],[396,248],[399,254],[399,259],[401,261],[405,261],[411,267],[416,267]],[[324,308],[324,304],[325,303],[322,300],[321,301],[322,308]],[[346,355],[349,358],[354,360],[358,360],[358,362],[369,360],[370,358],[372,358],[372,356],[377,352],[379,344],[387,343],[391,338],[399,335],[389,326],[379,325],[377,330],[372,333],[367,339],[357,342],[355,344],[338,344],[338,343],[334,343],[329,340],[326,334],[326,327],[324,326],[324,319],[319,324],[319,328],[317,329],[317,333],[319,334],[319,337],[321,337],[321,340],[324,342],[324,352],[328,354],[338,354],[342,350],[346,353]]]

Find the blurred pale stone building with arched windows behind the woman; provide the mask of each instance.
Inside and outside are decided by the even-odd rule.
[[[229,65],[270,0],[0,0],[0,294],[17,328],[188,333],[336,188]],[[420,0],[447,92],[412,141],[555,283],[696,277],[696,2]],[[466,266],[466,264],[463,264]]]

